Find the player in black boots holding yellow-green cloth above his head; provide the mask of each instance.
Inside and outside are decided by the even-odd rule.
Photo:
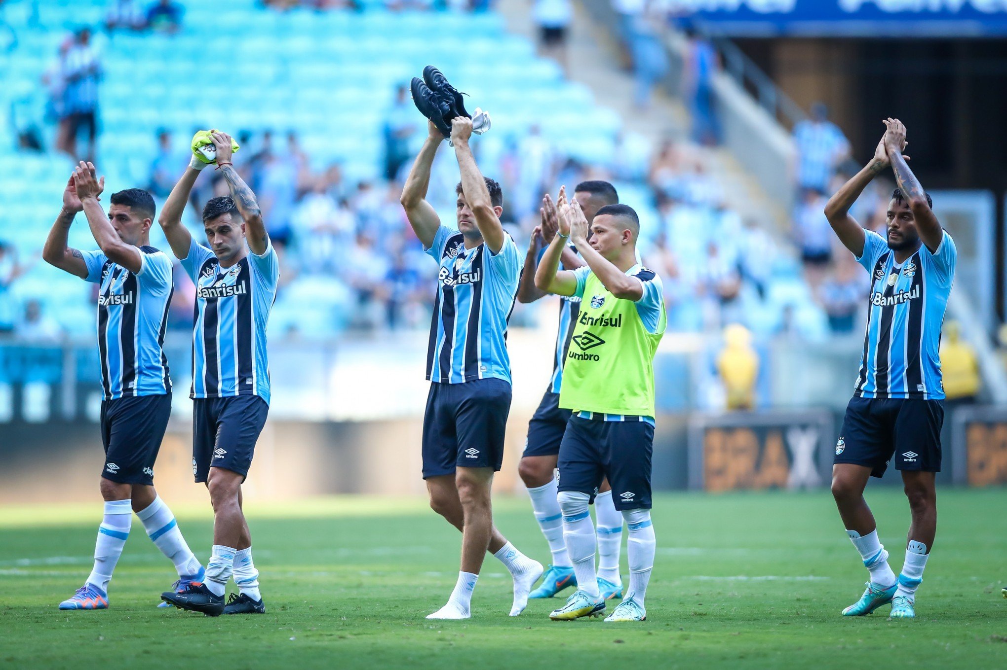
[[[177,607],[220,614],[262,614],[259,572],[252,561],[252,535],[242,511],[242,484],[269,412],[266,323],[276,299],[280,265],[255,194],[231,162],[231,136],[214,132],[217,169],[230,196],[202,209],[209,247],[182,225],[185,201],[199,171],[194,156],[172,189],[158,222],[195,284],[192,330],[192,471],[209,489],[213,505],[213,551],[202,583],[161,598]],[[247,242],[247,243],[246,243]],[[240,596],[224,593],[232,574]]]

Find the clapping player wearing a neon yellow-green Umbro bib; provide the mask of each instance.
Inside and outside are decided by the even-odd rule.
[[[559,401],[573,411],[560,443],[558,498],[577,592],[549,617],[570,620],[605,611],[587,506],[607,478],[615,509],[629,529],[629,589],[605,621],[643,621],[656,546],[651,524],[654,355],[668,325],[664,291],[658,276],[636,261],[639,219],[632,207],[599,209],[590,239],[584,212],[576,199],[567,203],[565,189],[558,210],[559,232],[539,264],[535,284],[581,299]],[[568,239],[586,267],[559,270]]]

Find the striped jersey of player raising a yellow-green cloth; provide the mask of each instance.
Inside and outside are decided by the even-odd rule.
[[[272,241],[222,268],[193,239],[182,268],[195,284],[191,397],[258,395],[269,402],[266,324],[276,300],[280,264]]]

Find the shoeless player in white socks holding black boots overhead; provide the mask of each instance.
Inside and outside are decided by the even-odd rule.
[[[428,123],[428,136],[402,191],[402,206],[416,236],[437,264],[437,298],[427,353],[423,417],[423,479],[430,506],[461,533],[461,569],[447,604],[427,619],[468,619],[472,590],[486,551],[514,577],[511,616],[528,605],[542,564],[518,551],[493,527],[490,488],[503,460],[511,410],[507,325],[521,275],[521,253],[503,230],[503,193],[475,165],[468,146],[472,121],[451,122],[451,143],[461,171],[457,227],[441,223],[426,201],[430,167],[444,136]]]

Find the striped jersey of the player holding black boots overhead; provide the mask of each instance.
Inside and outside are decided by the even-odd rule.
[[[496,254],[466,249],[457,228],[441,224],[430,248],[440,266],[430,323],[427,379],[457,384],[495,377],[511,381],[507,328],[523,258],[511,235]]]

